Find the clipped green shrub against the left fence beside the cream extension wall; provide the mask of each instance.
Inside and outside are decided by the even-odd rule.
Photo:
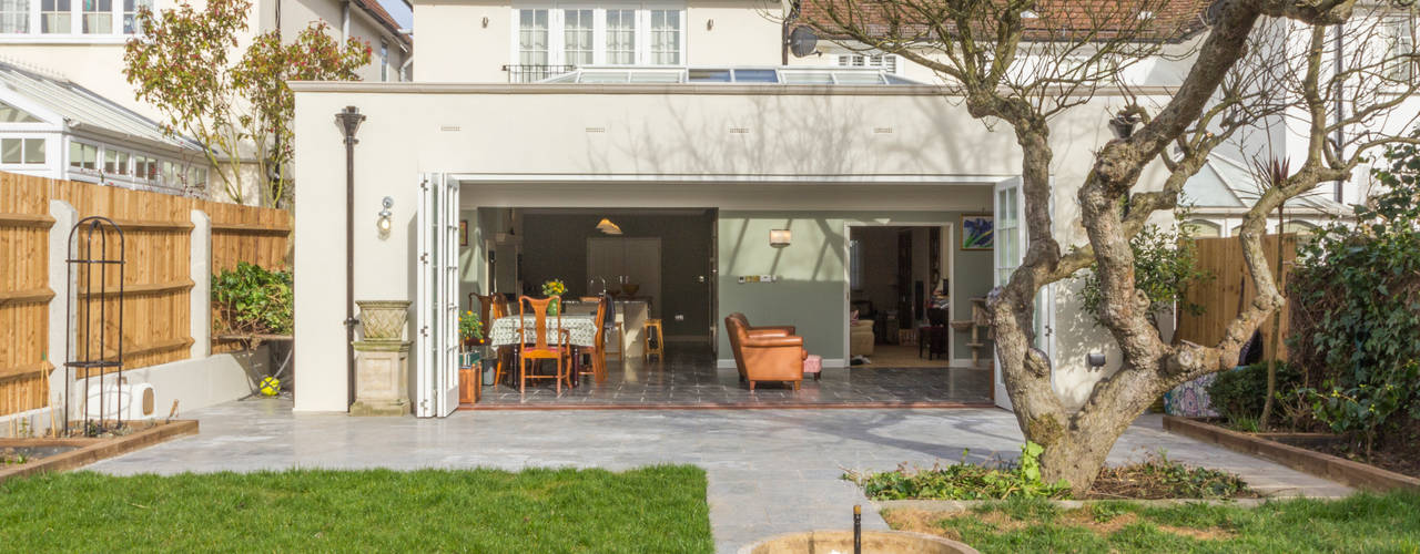
[[[294,323],[291,272],[268,271],[256,264],[212,276],[212,302],[219,333],[290,334]]]

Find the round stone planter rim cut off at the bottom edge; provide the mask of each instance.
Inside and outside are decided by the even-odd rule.
[[[770,537],[740,548],[740,554],[852,553],[853,531],[808,531]],[[863,531],[863,553],[977,554],[966,544],[910,531]]]

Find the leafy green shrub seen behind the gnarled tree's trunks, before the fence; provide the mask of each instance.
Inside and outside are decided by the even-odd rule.
[[[1142,290],[1149,298],[1149,316],[1157,319],[1174,306],[1180,310],[1200,315],[1203,306],[1189,302],[1189,288],[1197,282],[1211,279],[1213,275],[1197,268],[1197,247],[1194,245],[1193,225],[1184,222],[1189,211],[1180,210],[1174,224],[1162,227],[1149,224],[1129,241],[1135,252],[1135,289]],[[1099,290],[1098,268],[1081,273],[1082,279],[1081,302],[1085,312],[1099,322],[1099,310],[1103,307],[1103,298]]]

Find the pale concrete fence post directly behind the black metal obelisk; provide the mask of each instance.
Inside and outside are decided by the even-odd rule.
[[[70,323],[74,322],[75,310],[70,305],[70,292],[72,292],[70,268],[65,259],[70,255],[70,230],[78,222],[78,210],[74,210],[70,203],[62,200],[50,200],[50,215],[54,217],[54,227],[50,227],[50,259],[48,259],[48,282],[50,290],[54,292],[54,298],[50,299],[50,329],[48,329],[48,346],[44,353],[54,370],[50,371],[50,405],[58,407],[64,405],[67,395],[64,390],[72,387],[68,380],[68,371],[64,370],[64,364],[70,361],[68,353],[68,332]],[[55,385],[60,383],[61,385]],[[70,407],[64,405],[61,411],[65,418],[71,418]],[[58,424],[64,424],[62,421]]]

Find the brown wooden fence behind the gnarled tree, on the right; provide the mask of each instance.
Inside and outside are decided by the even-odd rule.
[[[1277,235],[1262,238],[1268,268],[1277,272]],[[1203,306],[1201,315],[1184,312],[1179,317],[1179,337],[1191,343],[1213,346],[1223,340],[1227,326],[1238,316],[1240,307],[1257,298],[1257,288],[1248,278],[1242,259],[1242,245],[1235,237],[1200,238],[1197,245],[1198,269],[1213,275],[1211,281],[1198,283],[1189,290],[1187,299]],[[1296,259],[1296,235],[1282,235],[1282,271],[1289,272]],[[1288,334],[1289,319],[1287,307],[1281,310],[1282,337]],[[1264,360],[1272,357],[1272,319],[1268,317],[1258,329],[1262,333]],[[1287,360],[1285,340],[1279,344],[1278,360]]]

